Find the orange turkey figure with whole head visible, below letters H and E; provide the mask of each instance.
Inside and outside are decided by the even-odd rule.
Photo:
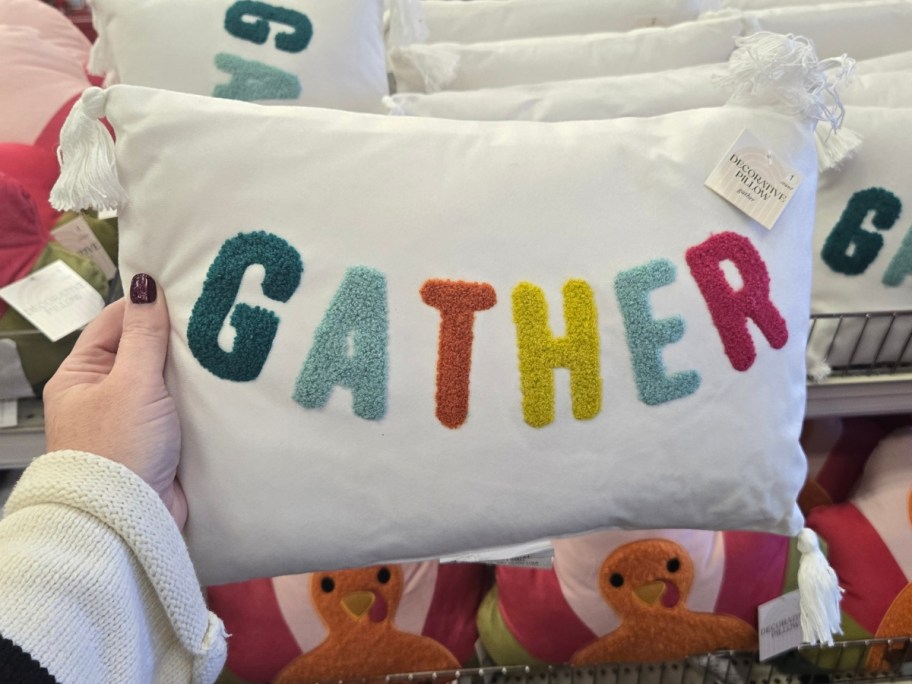
[[[717,649],[753,650],[757,632],[731,615],[691,611],[687,551],[667,539],[631,542],[602,564],[599,589],[620,626],[571,658],[576,665],[684,658]]]

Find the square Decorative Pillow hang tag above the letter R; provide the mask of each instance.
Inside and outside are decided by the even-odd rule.
[[[771,230],[801,181],[801,174],[745,129],[709,174],[706,187]]]

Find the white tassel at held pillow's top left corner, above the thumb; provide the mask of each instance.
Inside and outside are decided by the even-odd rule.
[[[99,121],[107,91],[87,88],[60,130],[60,178],[51,190],[51,206],[61,211],[116,210],[127,199],[117,178],[114,140]]]

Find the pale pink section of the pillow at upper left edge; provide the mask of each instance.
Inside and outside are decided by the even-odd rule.
[[[34,144],[88,86],[83,61],[71,51],[34,27],[0,24],[0,141]]]

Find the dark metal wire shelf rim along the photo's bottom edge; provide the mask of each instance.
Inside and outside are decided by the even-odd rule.
[[[872,658],[883,671],[868,669]],[[912,682],[912,637],[801,646],[769,662],[718,651],[684,660],[604,665],[479,667],[413,672],[338,684],[860,684]],[[306,684],[302,682],[301,684]]]

